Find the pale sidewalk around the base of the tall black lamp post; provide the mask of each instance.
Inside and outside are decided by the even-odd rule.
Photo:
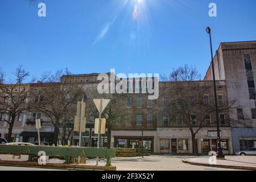
[[[197,166],[221,167],[256,171],[256,156],[225,156],[225,160],[217,160],[216,164],[209,164],[209,157],[186,158],[184,163]]]

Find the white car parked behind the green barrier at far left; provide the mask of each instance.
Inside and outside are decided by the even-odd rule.
[[[6,143],[3,144],[6,146],[35,146],[35,144],[32,143],[26,143],[26,142],[13,142],[13,143]],[[1,154],[0,160],[12,160],[12,161],[27,161],[28,155],[8,155],[8,154]]]

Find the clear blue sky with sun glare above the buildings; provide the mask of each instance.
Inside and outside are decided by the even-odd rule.
[[[204,76],[220,42],[256,40],[255,0],[26,0],[0,1],[0,67],[31,75],[68,68],[74,74],[170,73],[196,65]],[[210,2],[217,17],[208,15]],[[135,6],[137,5],[137,12]]]

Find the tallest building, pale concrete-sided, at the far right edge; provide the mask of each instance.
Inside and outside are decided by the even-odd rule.
[[[217,80],[225,80],[233,151],[256,147],[256,42],[221,43],[214,57]],[[205,80],[212,80],[209,67]]]

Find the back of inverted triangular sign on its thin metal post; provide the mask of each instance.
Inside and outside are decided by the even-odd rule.
[[[100,148],[100,135],[101,135],[101,113],[104,111],[106,106],[109,104],[109,99],[94,99],[93,102],[97,107],[99,118],[98,118],[98,142],[97,142],[97,148]],[[97,157],[97,163],[98,165],[98,157]]]

